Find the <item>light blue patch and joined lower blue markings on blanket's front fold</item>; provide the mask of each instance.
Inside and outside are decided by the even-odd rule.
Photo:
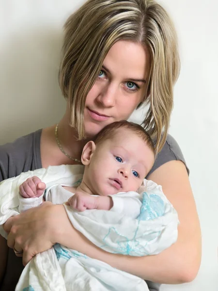
[[[140,221],[153,220],[156,217],[163,216],[164,210],[164,201],[160,196],[156,194],[148,195],[146,192],[144,192],[142,195],[140,215],[137,217],[138,223],[133,237],[128,238],[122,233],[118,232],[116,227],[110,227],[109,232],[103,239],[105,244],[102,245],[101,248],[105,249],[106,247],[109,247],[111,249],[111,246],[107,243],[107,239],[110,240],[110,238],[114,238],[114,236],[116,236],[116,247],[114,247],[113,253],[139,257],[150,255],[146,247],[149,242],[155,240],[160,235],[161,231],[154,231],[149,233],[150,240],[147,239],[142,243],[139,239],[136,239],[140,227]],[[141,236],[144,236],[144,234]]]

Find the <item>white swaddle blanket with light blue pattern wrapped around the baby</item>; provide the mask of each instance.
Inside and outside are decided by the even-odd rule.
[[[46,200],[60,203],[72,195],[60,184],[76,186],[81,181],[82,172],[82,166],[53,166],[1,182],[0,224],[18,214],[19,185],[27,178],[41,178],[49,187]],[[161,186],[145,179],[139,193],[119,193],[111,197],[113,207],[109,211],[79,212],[64,205],[73,226],[98,247],[110,253],[146,256],[160,253],[177,240],[177,212],[163,194]],[[56,244],[31,259],[16,290],[148,291],[148,287],[135,275]]]

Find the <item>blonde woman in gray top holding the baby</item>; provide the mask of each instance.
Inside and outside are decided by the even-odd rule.
[[[148,282],[150,290],[158,290],[158,283],[193,280],[201,261],[199,220],[185,160],[176,142],[167,137],[178,72],[174,28],[155,1],[90,0],[70,16],[59,75],[66,113],[58,125],[0,147],[1,179],[48,165],[79,163],[87,140],[107,124],[127,119],[146,102],[149,110],[143,125],[156,140],[158,153],[146,178],[163,186],[177,210],[178,241],[156,256],[109,254],[78,233],[62,207],[46,202],[5,223],[8,246],[14,251],[10,249],[7,258],[7,242],[0,238],[2,275],[8,260],[1,290],[14,290],[22,271],[21,258],[14,252],[23,255],[26,264],[56,242],[156,282]]]

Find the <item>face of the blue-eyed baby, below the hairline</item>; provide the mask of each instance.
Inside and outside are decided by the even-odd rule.
[[[96,145],[86,182],[93,194],[137,191],[154,164],[154,153],[134,132],[120,129]]]

